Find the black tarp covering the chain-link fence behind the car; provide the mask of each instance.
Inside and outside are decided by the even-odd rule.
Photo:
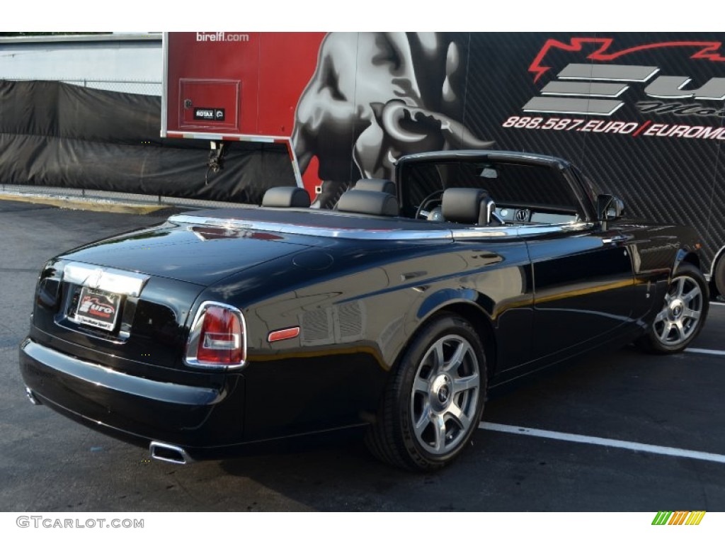
[[[294,185],[286,148],[233,142],[208,172],[209,143],[162,139],[158,96],[56,81],[0,81],[0,183],[259,203]]]

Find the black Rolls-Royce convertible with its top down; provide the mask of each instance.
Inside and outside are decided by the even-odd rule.
[[[46,263],[34,403],[176,463],[363,427],[378,458],[455,458],[486,390],[587,350],[676,353],[708,312],[691,228],[623,217],[566,160],[403,157],[334,210],[294,187]]]

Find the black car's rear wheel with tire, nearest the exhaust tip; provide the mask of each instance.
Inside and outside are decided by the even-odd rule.
[[[381,399],[366,443],[386,463],[431,471],[457,457],[479,426],[486,359],[468,321],[445,314],[415,334]]]

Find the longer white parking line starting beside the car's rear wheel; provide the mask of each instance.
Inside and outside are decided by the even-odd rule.
[[[544,431],[543,429],[531,429],[530,427],[518,427],[513,425],[502,425],[482,421],[479,429],[486,431],[508,432],[510,434],[525,434],[531,437],[551,438],[552,440],[566,440],[566,442],[579,442],[581,444],[592,444],[597,446],[608,446],[610,448],[622,448],[624,450],[644,451],[657,453],[660,456],[687,457],[699,459],[700,461],[712,461],[713,463],[725,463],[725,456],[720,453],[707,453],[705,451],[682,450],[680,448],[669,448],[653,444],[640,444],[639,442],[626,442],[626,440],[611,440],[610,438],[589,437],[585,434],[570,434],[568,432]]]

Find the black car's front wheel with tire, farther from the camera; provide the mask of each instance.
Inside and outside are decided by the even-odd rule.
[[[697,337],[708,316],[708,284],[700,270],[682,263],[677,268],[650,331],[639,346],[652,353],[679,353]]]

